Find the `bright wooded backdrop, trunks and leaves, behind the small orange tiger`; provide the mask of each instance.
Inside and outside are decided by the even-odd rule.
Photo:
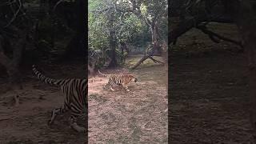
[[[90,0],[88,18],[90,66],[99,64],[95,54],[110,67],[122,65],[128,54],[148,50],[154,56],[167,39],[165,0]]]

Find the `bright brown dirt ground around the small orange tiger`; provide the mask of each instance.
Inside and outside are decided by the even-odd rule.
[[[141,58],[130,58],[132,63]],[[134,74],[138,82],[130,83],[126,92],[115,86],[103,86],[105,77],[89,79],[89,142],[167,143],[167,90],[163,66],[144,62],[137,70],[104,70],[103,73]],[[92,79],[94,81],[92,82]]]

